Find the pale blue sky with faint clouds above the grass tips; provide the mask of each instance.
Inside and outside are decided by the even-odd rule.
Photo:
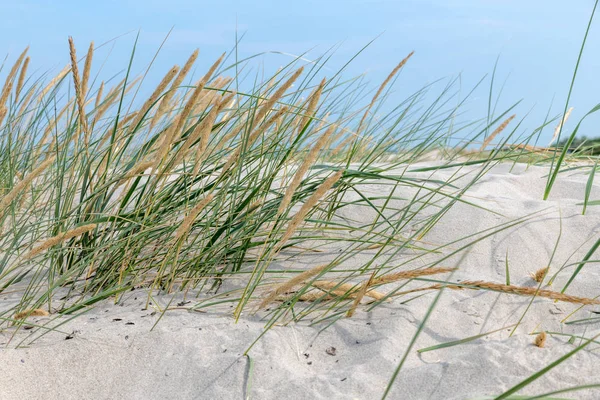
[[[148,75],[156,82],[173,64],[181,65],[195,48],[200,48],[199,66],[205,68],[232,48],[236,32],[245,34],[239,47],[242,57],[267,51],[309,51],[310,58],[339,46],[330,60],[332,71],[377,38],[345,75],[353,77],[366,72],[376,85],[399,60],[415,50],[390,101],[400,101],[438,78],[458,74],[466,93],[492,72],[499,56],[497,79],[500,83],[506,79],[500,104],[508,106],[523,99],[517,113],[520,117],[530,112],[524,127],[532,129],[543,121],[553,98],[555,114],[564,107],[593,3],[578,0],[567,6],[564,1],[554,0],[0,0],[0,55],[8,54],[13,60],[29,45],[33,69],[44,72],[66,64],[69,35],[83,54],[91,40],[100,44],[125,34],[114,47],[104,47],[95,57],[96,68],[105,62],[102,76],[107,77],[126,66],[139,31],[134,70],[142,72],[174,27]],[[571,101],[575,110],[568,127],[600,103],[599,24],[600,20],[588,38]],[[276,67],[289,61],[289,56],[269,53],[257,59],[257,66]],[[467,118],[485,115],[487,87],[486,84],[476,92],[466,105]],[[588,136],[600,135],[594,123],[587,123],[582,131]]]

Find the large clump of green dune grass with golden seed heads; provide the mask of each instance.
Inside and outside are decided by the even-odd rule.
[[[131,63],[119,76],[94,78],[101,49],[91,43],[79,59],[75,41],[65,45],[69,62],[47,83],[27,79],[25,51],[0,92],[0,245],[9,255],[0,260],[0,292],[22,293],[13,311],[71,314],[143,288],[149,299],[194,293],[197,308],[236,305],[236,317],[257,305],[268,326],[290,316],[352,317],[414,279],[452,273],[438,265],[441,255],[415,269],[451,247],[432,248],[428,232],[454,204],[469,204],[464,193],[491,166],[522,156],[539,133],[523,143],[509,142],[509,133],[498,149],[514,148],[465,160],[492,126],[482,150],[503,132],[512,108],[450,149],[453,135],[472,128],[449,106],[459,93],[452,85],[433,100],[428,87],[385,106],[412,52],[369,92],[358,80],[319,76],[322,60],[291,60],[260,81],[239,72],[251,60],[207,60],[195,50],[140,99],[143,79]],[[409,168],[434,151],[445,154],[439,166]],[[460,172],[446,182],[410,175],[474,164],[480,172],[461,190]],[[371,185],[386,190],[366,193]],[[350,207],[373,218],[358,223],[345,215]],[[331,261],[308,264],[308,254],[331,249]],[[399,261],[408,253],[410,261]],[[297,268],[274,267],[282,261]]]

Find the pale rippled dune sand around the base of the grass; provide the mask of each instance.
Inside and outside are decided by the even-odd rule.
[[[444,265],[460,267],[452,280],[504,283],[508,251],[512,283],[533,286],[535,282],[529,273],[547,265],[561,217],[562,236],[550,274],[569,258],[570,262],[581,260],[598,237],[600,207],[590,207],[582,216],[581,206],[577,205],[583,199],[586,174],[578,170],[561,174],[551,200],[542,201],[547,169],[517,165],[511,172],[511,166],[496,166],[465,197],[501,215],[456,204],[426,240],[447,243],[452,238],[546,211],[445,261]],[[463,169],[467,170],[475,172],[478,167]],[[455,172],[443,170],[435,177],[443,180]],[[456,184],[460,182],[464,184],[466,180]],[[591,198],[600,198],[600,187],[594,187]],[[355,217],[369,218],[361,213]],[[585,244],[580,247],[582,243]],[[572,271],[573,267],[569,267],[560,273],[550,289],[560,290]],[[600,295],[598,271],[597,264],[587,264],[568,293]],[[419,285],[423,284],[411,287]],[[28,335],[27,331],[18,332],[10,341],[10,348],[0,350],[0,398],[380,398],[434,296],[435,293],[429,293],[407,304],[395,300],[370,313],[361,308],[353,318],[342,319],[323,331],[322,325],[309,326],[304,322],[274,327],[250,351],[254,368],[249,376],[249,362],[242,354],[262,332],[265,321],[260,315],[244,316],[236,324],[224,312],[174,310],[150,331],[159,315],[152,315],[152,309],[142,310],[144,293],[129,292],[121,305],[102,303],[58,327],[66,333],[74,332],[70,340],[65,340],[65,334],[52,332],[30,347],[14,349]],[[4,297],[4,301],[10,300]],[[166,304],[170,298],[159,300]],[[498,395],[575,348],[566,336],[549,337],[545,348],[537,348],[530,332],[544,329],[588,338],[600,332],[597,323],[560,323],[577,305],[536,299],[511,337],[508,330],[503,330],[464,345],[416,353],[420,348],[511,325],[529,302],[529,298],[508,294],[445,290],[398,375],[390,398],[470,399]],[[596,309],[585,307],[571,319],[593,317],[595,314],[590,311]],[[56,321],[66,320],[61,317]],[[30,321],[43,323],[47,318]],[[11,335],[10,331],[0,333],[0,343],[8,343]],[[579,339],[575,341],[575,345],[579,343]],[[335,347],[335,355],[326,352],[330,347]],[[591,344],[520,393],[600,383],[598,348]],[[564,397],[596,399],[600,398],[600,391],[579,391]]]

